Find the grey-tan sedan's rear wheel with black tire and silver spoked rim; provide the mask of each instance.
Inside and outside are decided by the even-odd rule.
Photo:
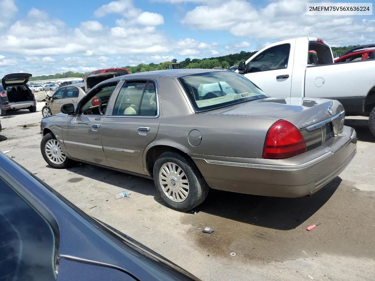
[[[153,168],[156,190],[166,205],[177,211],[189,211],[207,197],[209,187],[192,160],[164,152]]]

